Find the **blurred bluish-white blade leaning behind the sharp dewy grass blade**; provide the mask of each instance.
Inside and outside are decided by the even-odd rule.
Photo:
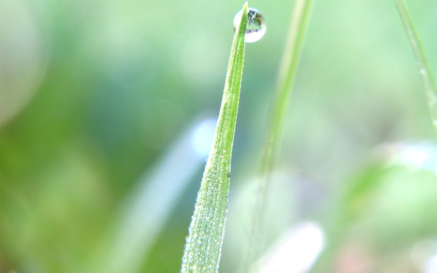
[[[101,272],[138,272],[190,178],[205,164],[217,120],[191,126],[121,206]],[[182,252],[181,252],[182,255]]]

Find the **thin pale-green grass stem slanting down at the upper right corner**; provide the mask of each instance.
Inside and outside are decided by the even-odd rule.
[[[403,0],[395,0],[395,4],[410,40],[411,47],[413,48],[414,55],[416,56],[417,66],[419,66],[420,76],[422,76],[423,85],[425,86],[425,93],[427,96],[431,121],[434,127],[434,133],[437,137],[437,90],[431,77],[431,70],[428,66],[425,55],[423,54],[422,46],[420,45],[419,38],[414,30],[405,2]]]

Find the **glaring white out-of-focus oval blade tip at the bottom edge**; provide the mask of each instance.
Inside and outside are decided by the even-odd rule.
[[[304,273],[312,267],[324,246],[322,229],[313,222],[290,228],[260,259],[261,273]]]

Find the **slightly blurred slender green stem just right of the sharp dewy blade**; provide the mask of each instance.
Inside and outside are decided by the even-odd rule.
[[[262,220],[265,214],[265,198],[268,194],[267,186],[281,145],[285,116],[291,98],[291,87],[295,82],[296,70],[298,68],[313,2],[313,0],[297,1],[292,15],[288,41],[285,47],[284,57],[282,58],[283,63],[278,81],[279,84],[272,104],[267,127],[267,136],[261,156],[261,173],[260,179],[257,182],[256,203],[253,209],[252,234],[248,249],[246,250],[248,256],[246,258],[246,266],[249,266],[258,258],[260,251],[264,247],[264,227]]]

